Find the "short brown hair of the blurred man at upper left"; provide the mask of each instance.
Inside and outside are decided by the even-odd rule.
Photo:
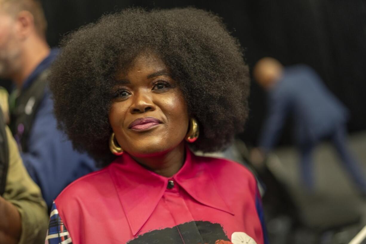
[[[45,38],[47,21],[39,0],[0,0],[0,12],[15,18],[22,11],[27,11],[33,16],[37,34]]]

